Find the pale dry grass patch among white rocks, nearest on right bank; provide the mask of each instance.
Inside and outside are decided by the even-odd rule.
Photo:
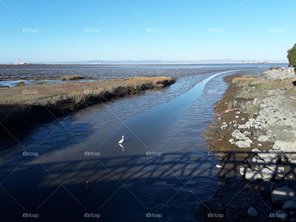
[[[291,132],[292,128],[290,126],[283,126],[283,125],[266,125],[263,129],[257,129],[254,132],[255,136],[265,136],[267,130],[271,130],[272,133],[269,134],[269,141],[275,142],[277,140],[282,140],[284,142],[295,142],[296,137],[294,133]]]

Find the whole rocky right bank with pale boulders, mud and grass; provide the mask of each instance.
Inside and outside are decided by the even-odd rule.
[[[198,221],[296,221],[295,73],[226,76],[215,123],[203,135],[220,161],[219,187]]]

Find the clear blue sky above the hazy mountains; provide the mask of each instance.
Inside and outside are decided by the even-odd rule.
[[[0,0],[0,63],[284,60],[296,42],[294,6],[294,0]]]

